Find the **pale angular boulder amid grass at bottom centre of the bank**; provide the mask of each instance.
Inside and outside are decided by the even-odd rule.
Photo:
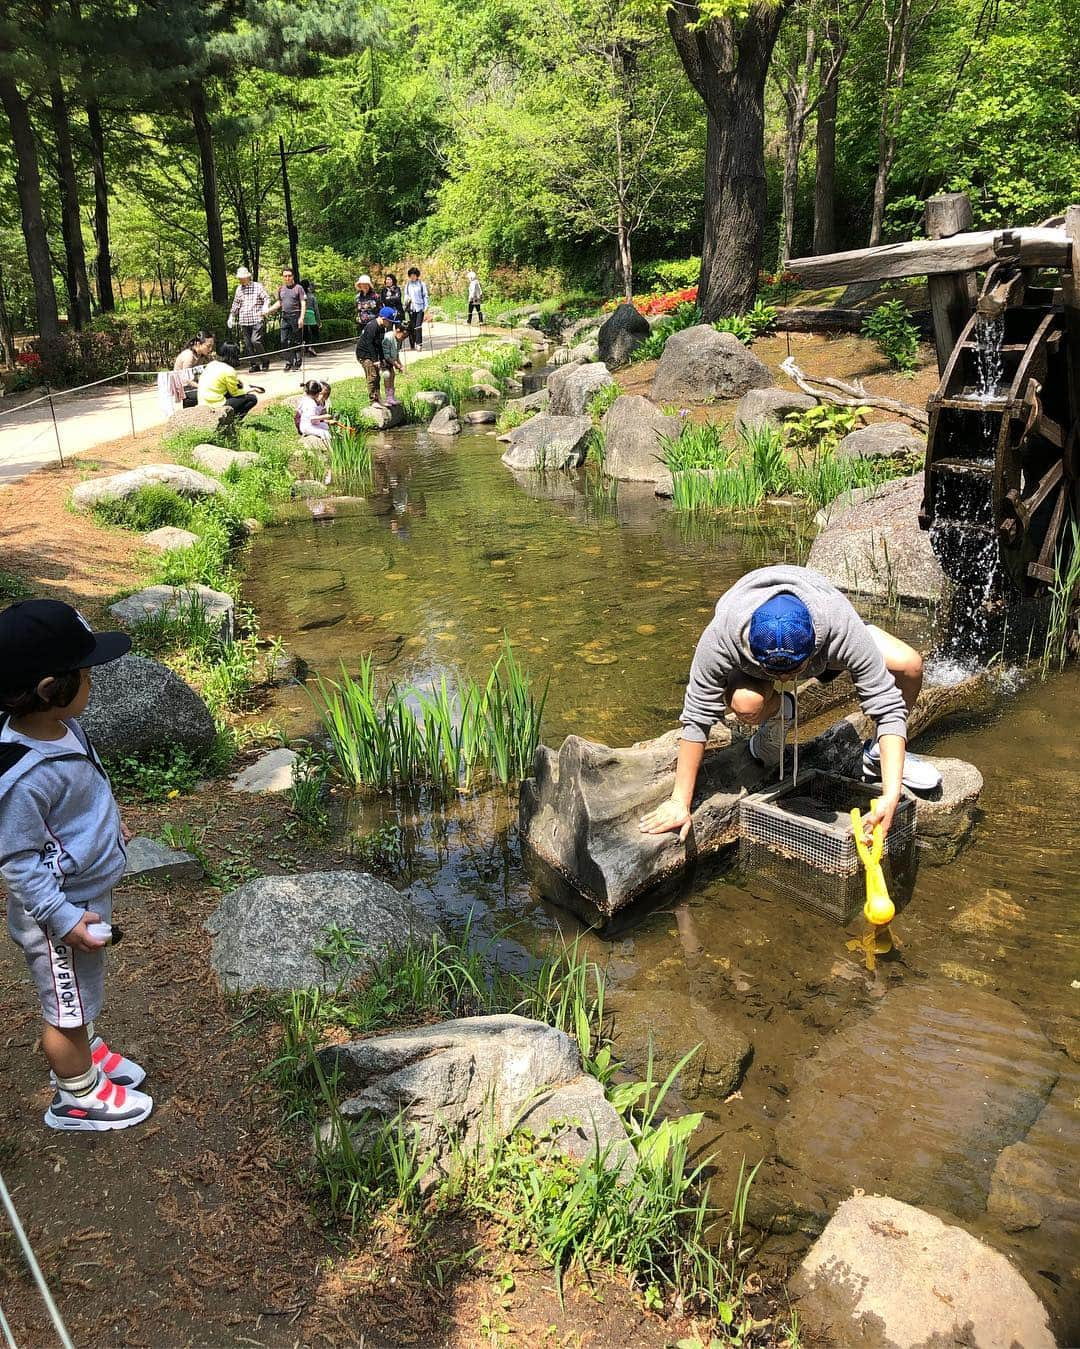
[[[539,1135],[570,1121],[568,1151],[591,1155],[600,1143],[612,1148],[613,1166],[632,1160],[622,1121],[582,1072],[577,1044],[542,1021],[462,1017],[330,1045],[320,1060],[338,1074],[341,1114],[361,1135],[403,1116],[421,1152],[444,1156],[453,1141],[468,1155],[518,1128]]]

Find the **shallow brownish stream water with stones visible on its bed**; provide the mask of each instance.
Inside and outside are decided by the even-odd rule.
[[[612,502],[584,479],[515,478],[502,448],[383,437],[368,499],[255,538],[245,600],[313,668],[372,653],[386,683],[480,676],[506,630],[534,679],[550,676],[549,745],[667,730],[717,596],[751,567],[801,560],[798,521],[777,509],[744,529],[688,527],[649,487]],[[925,616],[889,623],[926,637]],[[302,691],[279,714],[313,726]],[[743,1155],[766,1159],[751,1209],[773,1225],[767,1249],[798,1251],[855,1186],[890,1193],[1010,1253],[1064,1344],[1080,1342],[1077,719],[1071,670],[933,738],[983,772],[983,817],[957,861],[922,866],[903,948],[874,975],[848,934],[731,874],[587,938],[624,1059],[643,1064],[650,1033],[674,1056],[702,1041],[684,1097],[707,1114],[720,1194]],[[581,931],[530,881],[514,799],[400,815],[357,803],[347,827],[363,838],[388,813],[404,843],[395,881],[425,886],[452,927],[472,911],[507,963]],[[723,1066],[740,1037],[754,1059],[732,1095]]]

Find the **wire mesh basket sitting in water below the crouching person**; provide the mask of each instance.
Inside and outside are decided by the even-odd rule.
[[[866,898],[855,847],[852,807],[863,813],[880,788],[817,769],[739,803],[739,863],[779,892],[835,923],[847,924]],[[894,900],[910,889],[916,867],[916,803],[901,799],[884,840]]]

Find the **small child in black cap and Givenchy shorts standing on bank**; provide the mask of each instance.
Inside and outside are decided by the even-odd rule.
[[[59,600],[0,612],[0,877],[44,1018],[50,1129],[127,1129],[154,1109],[136,1090],[143,1068],[94,1031],[129,835],[78,716],[90,670],[129,650],[124,633],[94,633]]]

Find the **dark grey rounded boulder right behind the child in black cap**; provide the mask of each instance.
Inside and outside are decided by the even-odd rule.
[[[170,749],[198,754],[217,738],[198,693],[144,656],[121,656],[97,666],[81,722],[97,749],[111,755]]]

